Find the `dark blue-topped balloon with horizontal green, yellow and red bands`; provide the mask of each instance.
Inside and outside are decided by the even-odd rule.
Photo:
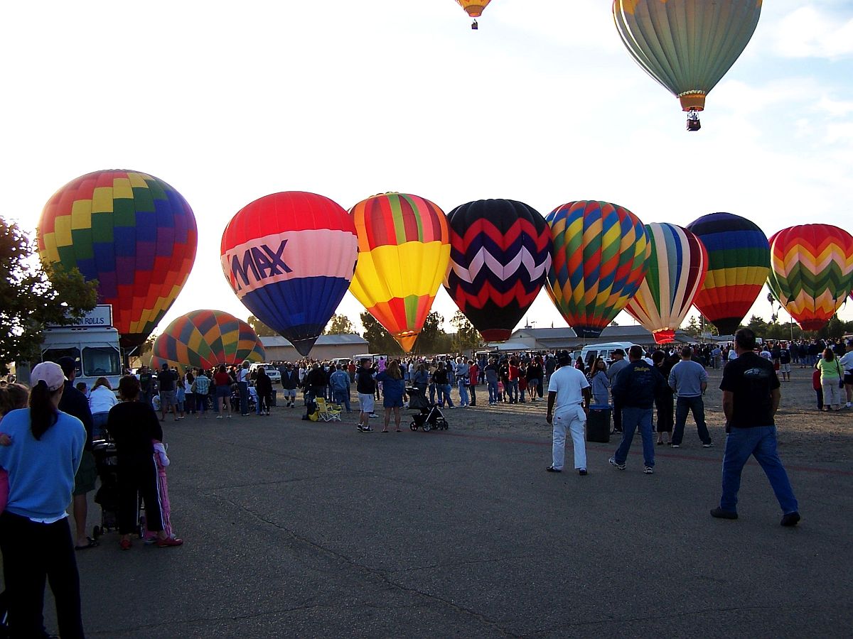
[[[711,213],[688,224],[708,250],[708,275],[693,301],[720,335],[734,335],[770,272],[767,236],[745,217]]]

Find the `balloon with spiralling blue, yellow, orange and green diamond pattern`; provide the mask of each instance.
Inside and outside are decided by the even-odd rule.
[[[577,337],[598,337],[646,276],[646,228],[630,210],[593,200],[563,204],[546,219],[554,239],[548,295]]]

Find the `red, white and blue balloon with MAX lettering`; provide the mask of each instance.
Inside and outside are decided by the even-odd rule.
[[[225,227],[222,268],[246,308],[307,355],[350,285],[357,250],[352,218],[339,204],[274,193]]]

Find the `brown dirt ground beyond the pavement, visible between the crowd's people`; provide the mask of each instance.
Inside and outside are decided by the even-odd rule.
[[[725,418],[722,414],[722,392],[719,389],[722,371],[709,369],[708,376],[705,420],[722,456],[725,442]],[[792,369],[790,382],[782,382],[781,394],[776,425],[779,428],[779,451],[783,461],[838,464],[838,469],[853,469],[853,410],[818,412],[815,391],[811,386],[811,369],[799,366]],[[456,402],[458,394],[454,392],[452,396]],[[550,439],[551,428],[545,422],[545,401],[488,406],[487,398],[486,387],[481,384],[477,387],[478,406],[445,409],[450,428],[460,432]],[[381,414],[381,405],[377,410]],[[381,422],[381,419],[374,420],[374,423],[376,421]],[[688,416],[682,450],[699,447],[699,438],[695,433],[693,417]],[[613,437],[615,435],[611,441],[614,441]]]

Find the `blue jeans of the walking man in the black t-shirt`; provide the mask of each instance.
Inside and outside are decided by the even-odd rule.
[[[722,497],[720,508],[737,512],[740,471],[752,455],[761,464],[764,475],[779,500],[782,512],[798,512],[797,499],[788,481],[788,474],[776,452],[776,427],[757,426],[752,429],[732,429],[726,437],[726,450],[722,454]]]

